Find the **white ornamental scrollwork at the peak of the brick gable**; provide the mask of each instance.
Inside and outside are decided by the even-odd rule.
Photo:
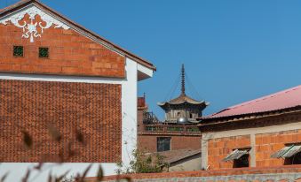
[[[26,14],[28,14],[29,16],[30,23],[24,20],[23,24],[20,25],[20,20],[24,19],[24,16]],[[45,26],[42,25],[43,22],[34,23],[36,15],[39,15],[41,19],[46,23]],[[44,33],[44,29],[50,28],[52,25],[55,25],[54,28],[64,28],[65,30],[70,28],[66,24],[60,22],[58,19],[54,19],[50,15],[46,14],[44,11],[41,11],[36,6],[28,7],[26,10],[14,13],[4,19],[0,19],[0,23],[4,25],[7,25],[7,22],[9,21],[11,21],[14,26],[22,28],[22,37],[27,39],[30,38],[30,42],[35,42],[34,39],[37,37],[41,37]],[[38,32],[37,27],[41,28],[41,33]]]

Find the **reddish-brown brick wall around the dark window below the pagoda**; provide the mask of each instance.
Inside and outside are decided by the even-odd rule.
[[[175,135],[144,135],[139,134],[138,143],[139,148],[147,150],[147,152],[157,151],[157,137],[171,137],[171,149],[200,149],[201,137],[200,136],[175,136]]]

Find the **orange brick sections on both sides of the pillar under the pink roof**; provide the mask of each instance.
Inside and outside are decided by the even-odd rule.
[[[257,167],[276,167],[285,165],[282,158],[272,158],[275,152],[284,148],[286,144],[300,143],[301,130],[290,130],[277,133],[260,133],[255,136],[255,157]],[[235,148],[250,147],[250,135],[225,137],[209,140],[208,163],[211,170],[231,169],[233,163],[222,162],[226,155]]]

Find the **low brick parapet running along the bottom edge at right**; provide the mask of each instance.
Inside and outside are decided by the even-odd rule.
[[[301,181],[301,165],[269,168],[243,168],[216,171],[181,171],[167,173],[146,173],[121,176],[109,176],[104,181],[116,181],[129,177],[133,181]],[[87,182],[94,178],[87,178]]]

